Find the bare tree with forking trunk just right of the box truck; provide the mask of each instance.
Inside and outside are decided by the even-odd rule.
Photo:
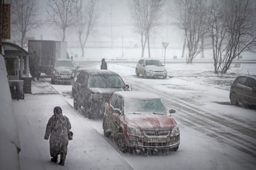
[[[74,30],[79,36],[79,42],[82,49],[81,57],[84,57],[84,45],[100,16],[100,8],[97,6],[97,3],[98,0],[89,0],[87,3],[83,0],[75,1],[77,25],[75,25]],[[85,40],[82,39],[83,35],[85,35]]]

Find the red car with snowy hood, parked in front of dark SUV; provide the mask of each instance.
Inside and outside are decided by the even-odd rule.
[[[180,133],[163,100],[152,93],[115,92],[106,104],[103,118],[104,135],[118,139],[122,152],[132,148],[179,148]]]

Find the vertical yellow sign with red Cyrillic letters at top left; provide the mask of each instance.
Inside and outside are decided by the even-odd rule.
[[[3,9],[3,4],[1,5],[1,9]],[[3,40],[10,40],[11,39],[11,4],[4,4],[4,11],[0,13],[0,24],[3,27]],[[2,16],[3,14],[3,16]],[[3,22],[2,22],[3,19]],[[0,29],[2,28],[0,27]],[[0,31],[2,32],[2,30]]]

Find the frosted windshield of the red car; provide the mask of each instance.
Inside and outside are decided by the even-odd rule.
[[[124,99],[124,114],[168,114],[162,99]]]

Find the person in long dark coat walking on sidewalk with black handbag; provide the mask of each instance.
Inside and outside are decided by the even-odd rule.
[[[68,130],[71,129],[69,119],[62,114],[62,109],[59,106],[54,108],[54,115],[49,119],[46,131],[45,140],[50,136],[50,155],[52,162],[58,162],[60,154],[60,164],[64,165],[66,154],[68,151]]]

